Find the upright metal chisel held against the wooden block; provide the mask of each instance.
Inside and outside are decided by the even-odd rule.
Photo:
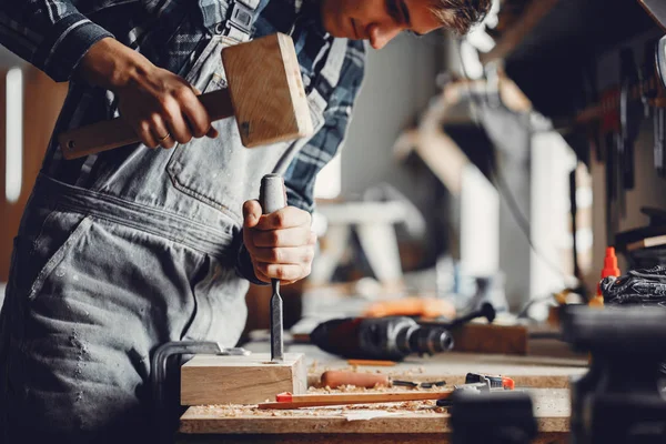
[[[279,174],[266,174],[261,180],[259,202],[263,214],[271,214],[286,206],[286,190],[284,180]],[[282,296],[280,296],[280,280],[272,279],[273,295],[271,296],[271,361],[282,362],[284,342],[282,339]]]

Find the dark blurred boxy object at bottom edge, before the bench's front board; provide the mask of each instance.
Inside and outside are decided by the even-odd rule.
[[[453,444],[527,444],[536,437],[527,393],[456,391],[450,400]]]

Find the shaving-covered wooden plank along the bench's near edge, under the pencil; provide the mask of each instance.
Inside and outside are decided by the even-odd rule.
[[[534,402],[534,414],[542,433],[568,432],[571,414],[568,390],[535,389],[528,391]],[[183,434],[220,435],[329,435],[329,434],[394,434],[394,442],[407,435],[451,433],[447,413],[434,411],[392,411],[391,416],[365,421],[349,421],[350,411],[340,407],[320,407],[295,411],[261,411],[245,406],[190,407],[181,417]],[[401,437],[402,436],[402,437]]]

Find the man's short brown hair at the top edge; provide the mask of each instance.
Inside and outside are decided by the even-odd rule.
[[[464,36],[485,19],[492,6],[493,0],[433,0],[432,9],[444,27]]]

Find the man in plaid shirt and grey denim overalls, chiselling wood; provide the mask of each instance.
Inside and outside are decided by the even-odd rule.
[[[314,179],[344,137],[363,40],[381,49],[402,31],[465,32],[490,3],[2,1],[0,43],[70,81],[54,133],[121,115],[142,141],[74,161],[49,145],[0,321],[8,442],[150,440],[155,347],[233,346],[248,281],[309,274]],[[196,94],[225,87],[223,47],[274,32],[294,39],[316,132],[248,150]],[[251,199],[270,172],[284,175],[290,206],[263,216]]]

